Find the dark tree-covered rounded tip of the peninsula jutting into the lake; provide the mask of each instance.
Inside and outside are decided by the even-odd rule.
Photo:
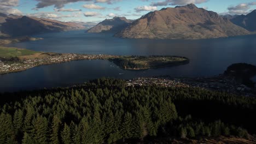
[[[110,58],[119,67],[130,70],[170,67],[189,63],[189,59],[179,56],[120,56]]]

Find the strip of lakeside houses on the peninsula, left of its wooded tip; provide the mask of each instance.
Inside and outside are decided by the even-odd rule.
[[[37,67],[39,65],[47,65],[54,63],[62,63],[69,61],[77,61],[77,60],[91,60],[91,59],[108,59],[110,57],[114,57],[111,55],[79,55],[74,53],[45,53],[46,57],[42,58],[28,58],[21,59],[17,61],[1,61],[0,59],[0,74],[12,73],[17,71],[23,71],[26,69],[30,69],[33,67]]]

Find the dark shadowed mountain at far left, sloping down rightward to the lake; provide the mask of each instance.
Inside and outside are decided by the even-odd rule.
[[[0,14],[0,33],[11,37],[85,28],[85,26],[75,22],[61,22],[38,17]]]

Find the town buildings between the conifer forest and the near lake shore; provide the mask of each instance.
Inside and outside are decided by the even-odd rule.
[[[234,77],[219,75],[200,78],[138,78],[127,81],[128,86],[157,85],[165,87],[198,87],[210,91],[220,91],[256,97],[256,88],[247,87],[236,81]]]

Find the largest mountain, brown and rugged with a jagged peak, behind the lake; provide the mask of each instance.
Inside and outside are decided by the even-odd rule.
[[[188,4],[150,12],[115,34],[121,38],[207,39],[250,34],[213,11]]]

